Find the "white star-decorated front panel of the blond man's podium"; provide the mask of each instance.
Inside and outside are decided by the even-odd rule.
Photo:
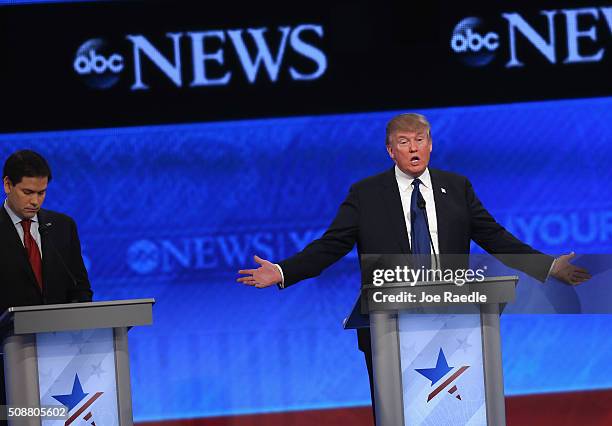
[[[474,311],[399,314],[406,426],[487,425],[481,319]]]

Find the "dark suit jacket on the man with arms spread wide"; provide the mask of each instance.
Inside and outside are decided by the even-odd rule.
[[[466,177],[436,169],[429,169],[429,172],[442,256],[465,255],[467,261],[470,240],[474,240],[508,266],[540,281],[546,279],[553,258],[519,241],[497,223],[483,207]],[[352,185],[323,236],[295,256],[279,262],[284,286],[318,276],[351,251],[355,244],[360,255],[410,253],[394,168]],[[504,254],[529,256],[519,258]],[[452,258],[456,260],[455,256]],[[444,257],[441,264],[447,267]]]

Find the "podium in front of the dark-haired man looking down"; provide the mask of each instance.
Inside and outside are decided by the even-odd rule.
[[[0,317],[9,425],[133,424],[128,330],[153,322],[154,299],[9,308]],[[60,407],[65,407],[60,409]],[[22,413],[23,410],[21,410]],[[51,410],[49,410],[51,412]],[[15,413],[14,413],[15,414]]]

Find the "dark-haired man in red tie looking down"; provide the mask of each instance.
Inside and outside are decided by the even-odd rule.
[[[17,151],[4,164],[0,315],[13,306],[91,301],[74,221],[41,208],[50,181],[47,161],[33,151]],[[4,397],[0,377],[0,405]]]

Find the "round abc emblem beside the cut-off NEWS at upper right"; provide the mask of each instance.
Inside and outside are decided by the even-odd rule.
[[[486,31],[483,20],[471,16],[455,26],[450,45],[463,63],[480,67],[495,57],[495,51],[499,48],[499,34]]]

